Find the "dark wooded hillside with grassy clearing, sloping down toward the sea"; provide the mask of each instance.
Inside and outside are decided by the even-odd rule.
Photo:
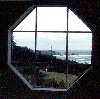
[[[68,67],[68,87],[89,68],[88,64],[83,65],[70,60],[66,62],[66,60],[56,59],[50,54],[43,53],[41,51],[35,53],[27,47],[16,46],[13,42],[12,64],[36,86],[64,88],[66,67]]]

